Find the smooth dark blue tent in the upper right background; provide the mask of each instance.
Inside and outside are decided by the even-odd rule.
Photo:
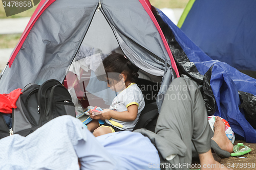
[[[256,71],[256,2],[196,0],[182,31],[210,58]]]

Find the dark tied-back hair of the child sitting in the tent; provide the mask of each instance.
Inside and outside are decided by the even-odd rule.
[[[115,80],[120,80],[119,74],[122,73],[126,76],[125,82],[133,82],[135,83],[138,78],[138,70],[133,63],[131,63],[128,59],[126,59],[123,55],[119,53],[113,53],[106,57],[103,60],[104,72],[106,72],[106,76],[108,78],[112,78]],[[96,70],[97,78],[101,81],[106,81],[106,76],[102,75],[102,66],[98,67]],[[119,74],[110,74],[110,73],[119,73]],[[100,76],[101,75],[101,76]]]

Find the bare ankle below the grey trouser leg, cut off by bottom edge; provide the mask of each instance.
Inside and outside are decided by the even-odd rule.
[[[211,154],[211,150],[209,150],[206,153],[199,154],[199,159],[200,159],[200,165],[201,165],[201,170],[205,169],[229,169],[226,166],[220,164],[216,160],[214,160],[214,157]]]

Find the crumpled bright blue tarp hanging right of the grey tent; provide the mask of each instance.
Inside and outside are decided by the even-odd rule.
[[[190,62],[194,62],[201,75],[212,66],[210,86],[214,93],[217,109],[215,116],[226,119],[233,132],[244,137],[246,142],[256,143],[256,130],[247,122],[243,112],[239,110],[241,104],[238,90],[256,95],[256,80],[242,74],[236,68],[212,60],[182,30],[158,10],[161,18],[172,29],[177,42],[182,47]]]

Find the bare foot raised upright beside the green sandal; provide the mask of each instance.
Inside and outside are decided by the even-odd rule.
[[[214,140],[222,150],[232,153],[233,144],[226,136],[225,123],[218,116],[216,116],[214,129],[214,137],[212,137],[211,139]]]

